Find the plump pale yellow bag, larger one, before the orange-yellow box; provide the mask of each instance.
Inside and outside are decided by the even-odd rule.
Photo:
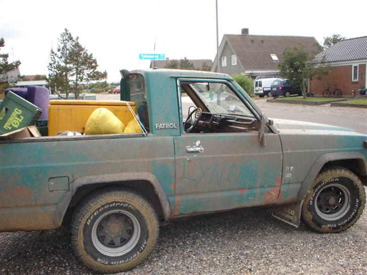
[[[110,110],[98,108],[89,116],[85,134],[123,133],[125,125]]]

